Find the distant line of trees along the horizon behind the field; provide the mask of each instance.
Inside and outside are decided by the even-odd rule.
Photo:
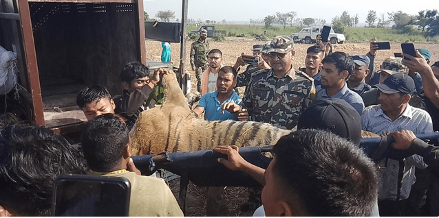
[[[310,26],[326,24],[324,19],[314,19],[312,17],[301,19],[296,16],[296,12],[277,12],[276,14],[266,16],[264,19],[250,19],[250,25],[264,25],[267,29],[272,28],[272,25],[281,25],[283,29],[285,29],[288,25]],[[160,21],[169,22],[171,19],[175,19],[175,12],[171,10],[158,11],[156,17],[160,19]],[[156,19],[150,19],[147,12],[144,12],[144,20],[155,21]],[[359,21],[358,14],[350,15],[349,12],[345,10],[341,15],[334,16],[331,20],[331,24],[335,32],[343,33],[345,32],[345,27],[356,27]],[[368,27],[392,27],[398,29],[401,34],[422,34],[422,36],[426,37],[439,35],[439,12],[436,9],[422,10],[415,15],[398,11],[387,12],[387,14],[380,14],[380,16],[376,14],[376,11],[370,10],[367,12],[365,22],[368,24]],[[226,19],[223,19],[221,22],[188,19],[188,23],[195,23],[196,25],[228,24]],[[392,26],[390,26],[391,24]]]

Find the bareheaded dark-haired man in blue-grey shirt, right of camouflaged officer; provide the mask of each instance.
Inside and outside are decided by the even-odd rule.
[[[321,71],[321,89],[317,99],[343,99],[350,104],[358,114],[363,113],[364,103],[360,95],[347,88],[346,80],[354,71],[354,60],[343,52],[334,52],[323,59]]]

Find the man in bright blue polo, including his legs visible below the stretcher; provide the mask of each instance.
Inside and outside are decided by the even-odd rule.
[[[212,93],[204,94],[193,112],[200,116],[204,112],[206,121],[224,121],[235,120],[237,116],[224,110],[221,111],[222,105],[227,102],[239,104],[242,99],[237,95],[235,88],[237,83],[237,72],[231,66],[224,66],[218,72],[217,90]],[[224,216],[226,211],[220,211],[224,206],[223,202],[224,187],[209,187],[207,193],[206,215],[208,217]]]

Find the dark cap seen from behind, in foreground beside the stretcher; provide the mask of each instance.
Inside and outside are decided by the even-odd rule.
[[[361,117],[343,99],[317,99],[302,112],[297,129],[328,130],[355,145],[361,141]]]

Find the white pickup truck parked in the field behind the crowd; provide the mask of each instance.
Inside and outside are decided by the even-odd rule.
[[[321,34],[322,29],[323,27],[306,27],[298,33],[291,34],[291,38],[295,41],[303,41],[306,44],[315,43],[316,36]],[[343,44],[343,42],[346,40],[345,35],[336,34],[332,28],[328,39],[330,40],[331,44]]]

